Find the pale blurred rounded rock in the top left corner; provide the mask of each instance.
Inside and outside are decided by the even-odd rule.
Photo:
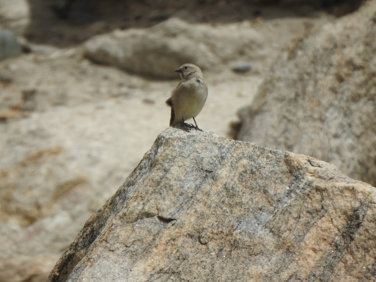
[[[20,34],[30,21],[27,0],[0,0],[0,29],[10,29]]]

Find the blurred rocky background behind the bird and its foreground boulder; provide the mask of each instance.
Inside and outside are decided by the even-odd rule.
[[[168,127],[185,62],[203,130],[376,185],[376,1],[64,3],[0,0],[0,281],[47,279]]]

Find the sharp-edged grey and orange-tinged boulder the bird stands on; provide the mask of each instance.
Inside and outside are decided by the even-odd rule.
[[[375,199],[309,156],[169,128],[48,281],[371,279]]]

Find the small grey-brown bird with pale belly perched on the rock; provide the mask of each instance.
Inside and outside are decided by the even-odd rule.
[[[176,126],[179,123],[187,125],[184,121],[193,118],[196,126],[193,124],[190,126],[201,130],[194,118],[201,112],[206,102],[208,85],[200,68],[196,65],[184,64],[175,71],[180,73],[182,80],[166,101],[167,105],[171,107],[170,126]]]

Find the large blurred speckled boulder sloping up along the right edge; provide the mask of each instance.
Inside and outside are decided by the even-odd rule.
[[[238,139],[311,155],[376,185],[376,1],[276,63],[241,111]]]

